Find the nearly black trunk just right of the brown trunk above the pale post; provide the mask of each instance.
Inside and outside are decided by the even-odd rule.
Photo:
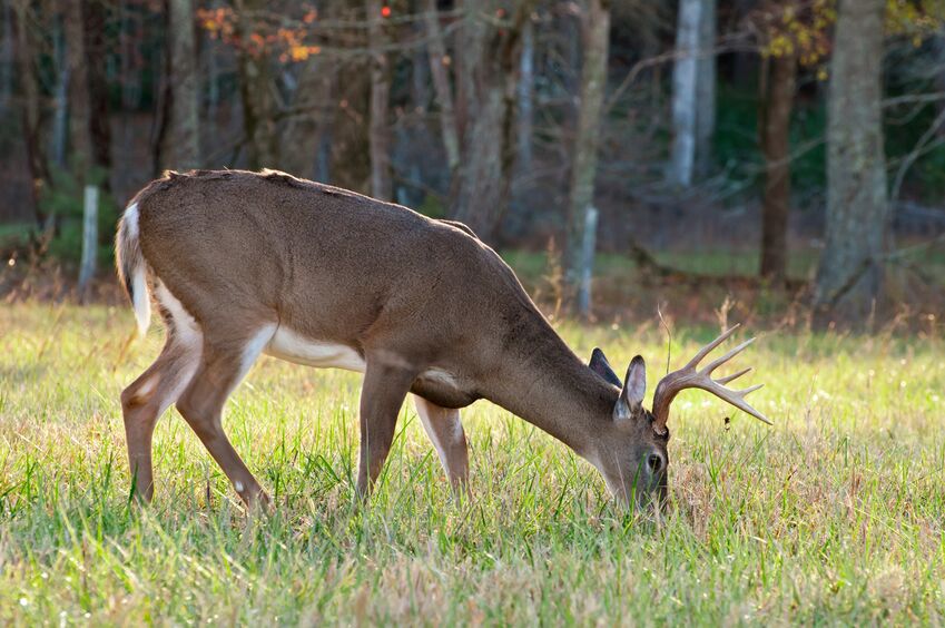
[[[106,76],[107,50],[105,41],[106,7],[99,0],[85,0],[82,3],[86,33],[86,59],[89,68],[89,133],[92,143],[92,164],[106,173],[111,170],[111,125],[108,107],[108,78]],[[98,181],[108,190],[111,188],[108,177]]]

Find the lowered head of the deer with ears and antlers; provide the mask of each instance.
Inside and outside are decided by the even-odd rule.
[[[646,507],[661,506],[666,501],[669,477],[669,409],[676,395],[686,389],[702,389],[744,410],[756,419],[771,422],[745,401],[745,395],[762,384],[735,391],[725,384],[740,377],[751,369],[713,380],[712,372],[741,353],[755,338],[736,346],[701,370],[699,363],[718,345],[723,343],[738,325],[703,346],[682,369],[669,373],[657,385],[652,411],[643,408],[647,392],[647,366],[641,356],[630,361],[627,375],[621,382],[603,352],[594,349],[589,366],[601,377],[620,386],[620,396],[613,408],[613,433],[609,442],[599,447],[594,465],[600,470],[610,491],[628,503]]]

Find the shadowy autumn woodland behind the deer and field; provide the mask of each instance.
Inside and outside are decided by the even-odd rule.
[[[7,0],[0,286],[71,290],[86,185],[109,284],[117,216],[148,180],[272,168],[461,220],[583,316],[676,285],[821,326],[926,316],[943,286],[943,13]]]

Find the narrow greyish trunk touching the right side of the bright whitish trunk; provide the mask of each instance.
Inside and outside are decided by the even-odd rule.
[[[696,174],[705,177],[712,167],[712,136],[716,131],[716,0],[702,0],[702,10],[699,16]]]

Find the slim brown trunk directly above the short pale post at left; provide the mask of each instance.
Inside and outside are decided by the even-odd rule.
[[[92,143],[89,75],[82,21],[82,3],[63,0],[66,62],[69,65],[69,163],[81,183],[91,165]]]

